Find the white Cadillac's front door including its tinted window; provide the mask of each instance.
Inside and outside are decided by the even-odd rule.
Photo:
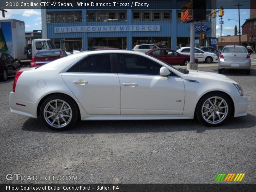
[[[122,115],[181,115],[185,88],[172,73],[160,76],[162,65],[143,56],[116,54]]]

